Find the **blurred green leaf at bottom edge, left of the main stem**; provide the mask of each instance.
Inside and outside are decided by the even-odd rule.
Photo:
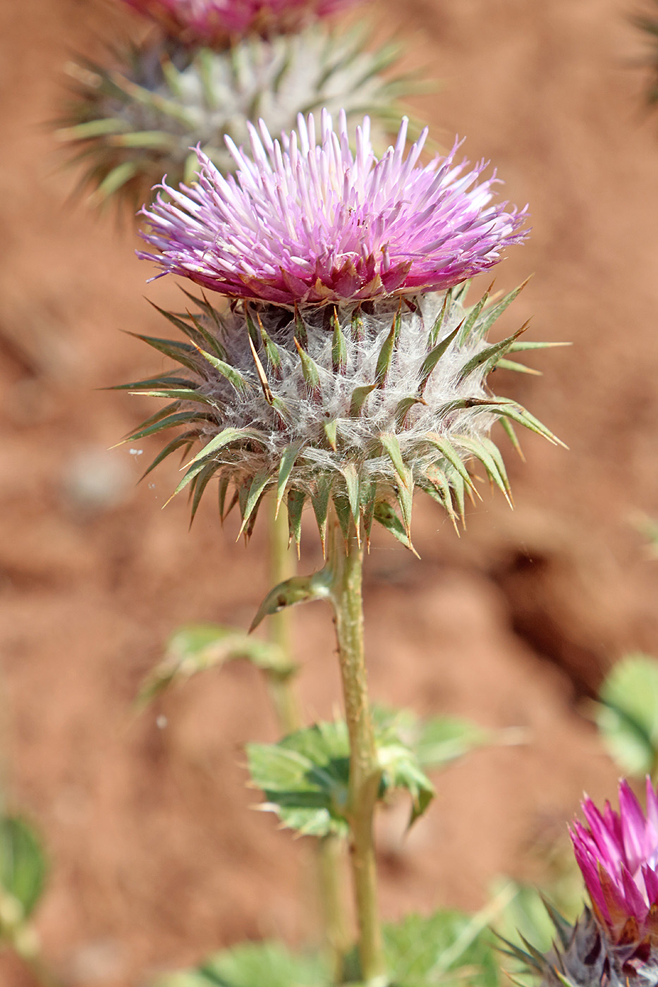
[[[165,973],[154,987],[330,987],[322,956],[300,955],[281,943],[241,943],[208,956],[195,970]]]

